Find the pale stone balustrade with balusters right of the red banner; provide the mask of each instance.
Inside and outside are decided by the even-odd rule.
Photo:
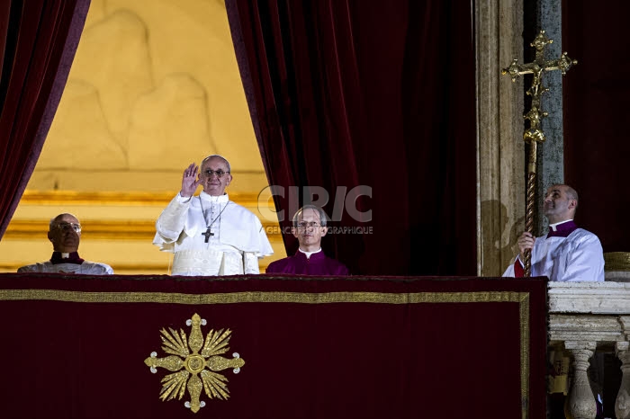
[[[596,351],[615,352],[621,361],[615,415],[630,419],[630,281],[624,281],[630,272],[617,273],[607,272],[606,282],[549,282],[550,345],[555,353],[571,355],[567,409],[575,419],[597,415],[587,375]]]

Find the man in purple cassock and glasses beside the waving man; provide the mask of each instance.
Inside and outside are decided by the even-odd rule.
[[[300,242],[298,251],[269,263],[266,273],[301,275],[348,275],[347,267],[321,251],[321,237],[326,236],[326,214],[314,205],[305,205],[293,216],[293,236]]]

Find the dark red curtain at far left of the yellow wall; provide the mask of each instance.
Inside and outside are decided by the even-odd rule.
[[[5,0],[0,5],[0,236],[40,156],[89,4]]]

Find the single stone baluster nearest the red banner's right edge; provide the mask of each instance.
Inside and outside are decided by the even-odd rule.
[[[598,413],[595,397],[590,388],[589,360],[595,352],[595,342],[565,342],[564,347],[573,355],[573,379],[569,390],[569,412],[574,419],[594,419]]]

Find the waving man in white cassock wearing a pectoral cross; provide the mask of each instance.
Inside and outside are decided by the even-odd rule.
[[[157,218],[153,244],[175,253],[173,275],[256,274],[258,259],[274,254],[260,220],[229,201],[229,172],[229,162],[218,155],[203,159],[201,171],[189,165],[182,190]],[[203,191],[193,196],[200,184]]]

